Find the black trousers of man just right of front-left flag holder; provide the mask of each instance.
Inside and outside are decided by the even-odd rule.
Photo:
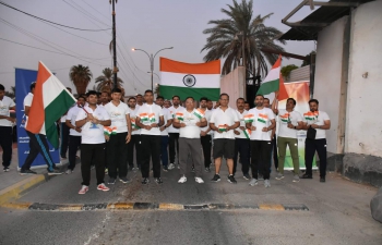
[[[128,144],[126,144],[126,133],[117,133],[110,135],[109,144],[107,146],[107,158],[109,177],[117,179],[128,176]]]

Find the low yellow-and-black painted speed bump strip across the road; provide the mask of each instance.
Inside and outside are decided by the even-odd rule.
[[[234,204],[207,204],[207,205],[180,205],[157,203],[112,203],[112,204],[39,204],[39,203],[5,203],[0,207],[10,209],[24,209],[37,211],[95,211],[95,210],[273,210],[273,211],[309,211],[303,204],[260,204],[260,205],[234,205]]]

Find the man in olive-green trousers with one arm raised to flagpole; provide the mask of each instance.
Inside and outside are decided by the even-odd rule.
[[[294,163],[294,180],[293,182],[299,182],[300,163],[298,158],[298,139],[297,132],[302,130],[302,117],[298,111],[295,111],[296,100],[288,98],[286,102],[286,109],[276,109],[277,100],[273,100],[272,110],[278,115],[278,174],[276,180],[284,179],[284,164],[286,148],[289,147],[290,157]]]

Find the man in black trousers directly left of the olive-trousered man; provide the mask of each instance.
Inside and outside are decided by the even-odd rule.
[[[251,130],[251,170],[252,180],[249,185],[258,185],[258,172],[263,174],[264,186],[271,187],[270,162],[272,151],[271,133],[276,126],[275,117],[270,108],[263,106],[264,96],[256,95],[255,108],[248,111],[246,126]]]

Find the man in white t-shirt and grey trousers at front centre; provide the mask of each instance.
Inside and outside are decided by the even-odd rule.
[[[191,154],[195,182],[204,183],[202,179],[202,158],[201,158],[201,127],[206,126],[207,122],[204,118],[204,111],[194,108],[194,99],[188,97],[186,99],[186,108],[178,110],[174,118],[174,126],[179,128],[179,163],[180,163],[180,180],[178,183],[186,183],[187,160]]]

